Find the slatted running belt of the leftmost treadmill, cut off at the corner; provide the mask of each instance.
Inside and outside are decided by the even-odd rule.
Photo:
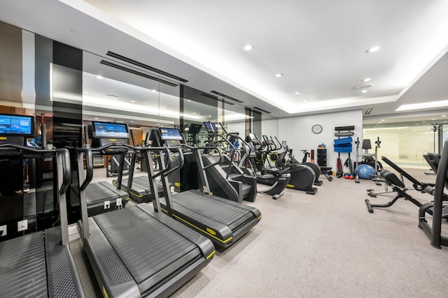
[[[0,242],[1,297],[48,297],[42,232]]]

